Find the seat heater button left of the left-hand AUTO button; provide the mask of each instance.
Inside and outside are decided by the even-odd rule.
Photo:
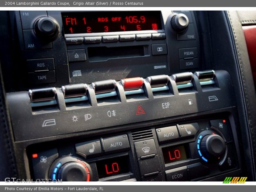
[[[92,140],[83,143],[77,143],[76,152],[78,152],[78,154],[82,153],[83,156],[85,155],[85,158],[100,156],[103,154],[100,140]]]

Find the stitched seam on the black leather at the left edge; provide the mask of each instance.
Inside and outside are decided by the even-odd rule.
[[[4,115],[4,108],[3,108],[3,100],[2,100],[2,94],[0,94],[0,108],[1,108],[1,113],[2,113],[2,117],[3,117],[3,122],[4,122],[4,135],[7,139],[7,146],[9,149],[9,156],[11,157],[11,167],[13,169],[14,172],[14,177],[16,177],[16,167],[15,167],[15,163],[14,163],[14,158],[13,158],[13,153],[12,153],[12,147],[11,147],[11,141],[10,141],[10,137],[8,135],[8,128],[6,126],[6,121],[5,121],[5,115]]]

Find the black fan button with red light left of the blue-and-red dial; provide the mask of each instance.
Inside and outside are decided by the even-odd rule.
[[[47,179],[48,169],[58,156],[59,154],[56,148],[32,154],[35,179]],[[42,176],[44,178],[42,178]]]

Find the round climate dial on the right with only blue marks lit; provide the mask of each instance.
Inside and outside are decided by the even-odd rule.
[[[198,137],[197,150],[205,162],[216,162],[225,153],[225,142],[220,135],[204,131]]]

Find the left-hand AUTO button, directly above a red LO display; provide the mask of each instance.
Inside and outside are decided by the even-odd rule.
[[[103,149],[105,148],[105,154],[122,152],[130,149],[130,144],[127,135],[103,138],[102,145]]]

